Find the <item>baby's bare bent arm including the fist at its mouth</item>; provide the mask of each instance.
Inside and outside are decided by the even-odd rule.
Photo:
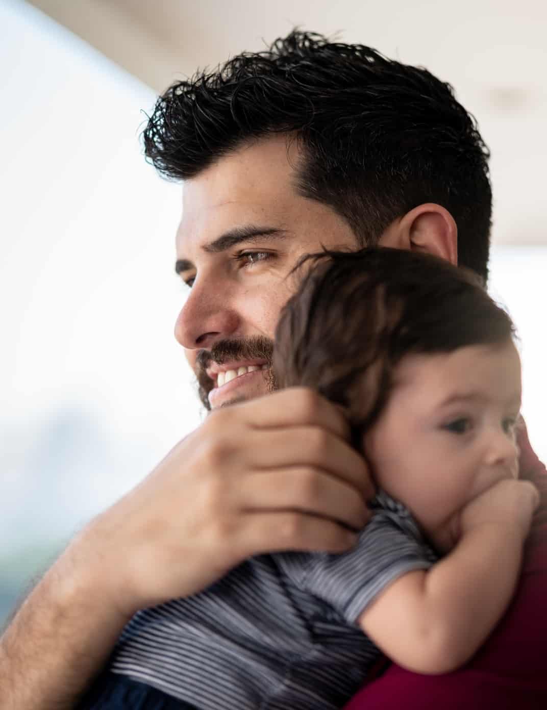
[[[444,673],[464,664],[507,608],[538,505],[527,481],[500,481],[460,513],[460,540],[427,571],[399,577],[359,616],[399,665]]]

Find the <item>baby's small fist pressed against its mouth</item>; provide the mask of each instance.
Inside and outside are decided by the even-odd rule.
[[[530,481],[499,481],[462,508],[460,533],[480,525],[513,525],[524,540],[538,505],[539,493]]]

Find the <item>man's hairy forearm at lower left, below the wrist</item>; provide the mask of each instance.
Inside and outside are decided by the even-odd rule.
[[[0,639],[0,710],[75,706],[128,621],[92,582],[69,548],[33,589]]]

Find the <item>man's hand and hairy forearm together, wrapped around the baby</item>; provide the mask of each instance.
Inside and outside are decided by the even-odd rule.
[[[212,413],[82,530],[0,640],[1,710],[69,709],[143,606],[251,555],[342,552],[369,518],[340,410],[295,388]]]

